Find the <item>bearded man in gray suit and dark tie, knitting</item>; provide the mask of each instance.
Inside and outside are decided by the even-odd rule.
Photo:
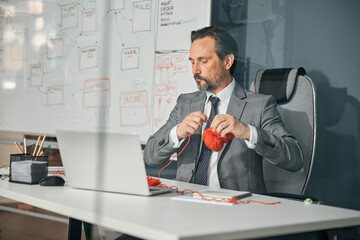
[[[199,91],[179,96],[165,125],[148,139],[145,161],[168,161],[190,138],[177,157],[177,180],[265,193],[262,162],[297,171],[301,148],[284,128],[275,99],[235,82],[237,45],[226,31],[206,27],[193,31],[191,40],[189,60]],[[206,124],[222,137],[232,133],[235,138],[220,152],[209,150],[201,139]]]

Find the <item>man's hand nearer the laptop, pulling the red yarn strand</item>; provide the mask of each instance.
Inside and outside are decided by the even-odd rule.
[[[185,117],[176,129],[178,139],[181,140],[187,136],[194,134],[207,120],[204,113],[197,111],[192,112]]]

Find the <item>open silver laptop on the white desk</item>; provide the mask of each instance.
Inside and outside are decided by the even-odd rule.
[[[170,192],[148,186],[136,134],[57,130],[56,137],[70,187],[144,196]]]

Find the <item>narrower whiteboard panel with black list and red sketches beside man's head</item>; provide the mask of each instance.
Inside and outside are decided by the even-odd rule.
[[[160,0],[156,27],[153,131],[168,119],[181,93],[196,91],[191,73],[190,33],[210,24],[208,0]]]

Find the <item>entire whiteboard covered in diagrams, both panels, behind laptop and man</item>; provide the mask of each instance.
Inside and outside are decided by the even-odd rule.
[[[176,97],[196,90],[188,51],[183,51],[190,43],[160,41],[174,30],[158,25],[165,2],[173,6],[174,19],[185,10],[183,4],[190,4],[0,0],[0,130],[135,132],[146,141],[167,119]],[[210,0],[191,6],[194,2],[210,9]],[[197,7],[192,9],[199,18]],[[186,19],[192,19],[188,12]],[[201,21],[176,28],[190,38],[192,30],[209,25],[209,16],[204,12]],[[157,67],[163,55],[158,50],[171,50],[176,62],[165,82],[159,75],[165,69]],[[165,95],[158,95],[164,86]]]

